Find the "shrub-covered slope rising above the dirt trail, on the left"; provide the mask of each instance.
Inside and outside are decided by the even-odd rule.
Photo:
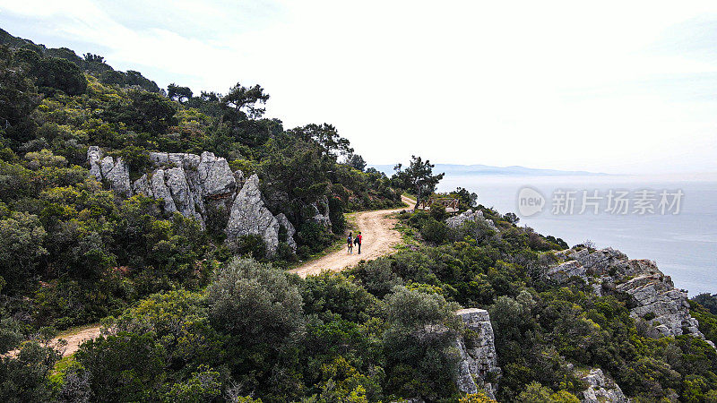
[[[99,56],[5,31],[0,43],[2,348],[42,326],[97,322],[154,292],[200,289],[234,253],[270,258],[260,236],[225,243],[226,223],[204,226],[146,193],[111,191],[90,174],[91,146],[124,161],[133,181],[156,172],[154,151],[210,152],[245,178],[257,175],[266,207],[296,229],[296,244],[271,256],[279,265],[332,244],[343,211],[401,205],[400,191],[365,172],[332,125],[285,130],[264,118],[269,95],[258,85],[194,96],[116,72]],[[314,219],[317,203],[331,226]]]

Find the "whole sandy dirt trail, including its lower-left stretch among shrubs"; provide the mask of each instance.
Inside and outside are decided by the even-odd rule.
[[[401,242],[401,234],[393,229],[396,220],[389,218],[388,215],[396,211],[412,209],[415,204],[414,201],[405,196],[402,196],[402,201],[408,204],[409,207],[357,213],[357,231],[361,231],[363,235],[361,254],[358,254],[358,246],[354,246],[353,254],[346,253],[346,247],[342,247],[339,251],[329,253],[322,258],[307,262],[303,266],[289,271],[305,278],[309,274],[318,274],[323,270],[341,271],[362,260],[370,261],[384,254],[392,253],[393,247]],[[56,339],[50,341],[50,345],[59,347],[59,339],[65,339],[67,345],[60,347],[60,349],[64,349],[62,355],[71,356],[80,348],[83,341],[95,339],[98,336],[99,324],[94,324],[61,333]],[[4,356],[17,356],[19,353],[20,350],[13,350],[4,354]]]

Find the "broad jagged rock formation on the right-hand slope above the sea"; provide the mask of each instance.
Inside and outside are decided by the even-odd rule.
[[[630,315],[649,323],[651,337],[691,334],[704,339],[699,323],[689,314],[687,292],[675,288],[655,262],[628,260],[624,253],[612,248],[590,252],[568,250],[557,253],[561,259],[571,259],[546,273],[558,283],[579,277],[592,286],[599,296],[625,293],[632,297]]]

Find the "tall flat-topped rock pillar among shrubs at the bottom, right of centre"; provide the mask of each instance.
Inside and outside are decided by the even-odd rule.
[[[497,365],[495,339],[488,311],[468,308],[455,314],[461,317],[470,330],[465,337],[455,340],[455,347],[461,353],[456,376],[458,390],[476,393],[478,388],[482,388],[489,398],[495,399],[501,370]]]

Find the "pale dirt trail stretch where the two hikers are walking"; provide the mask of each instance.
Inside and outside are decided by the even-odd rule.
[[[352,254],[346,253],[346,247],[344,246],[336,252],[329,253],[324,257],[307,262],[289,271],[306,278],[309,274],[318,274],[324,270],[341,271],[356,265],[360,261],[370,261],[393,252],[393,247],[401,242],[401,234],[393,229],[396,220],[389,218],[388,215],[396,211],[412,209],[415,204],[414,201],[405,196],[402,196],[402,201],[410,207],[395,210],[364,211],[356,215],[356,230],[361,231],[363,235],[361,254],[358,254],[358,246],[354,246]],[[354,233],[355,235],[356,233]]]

